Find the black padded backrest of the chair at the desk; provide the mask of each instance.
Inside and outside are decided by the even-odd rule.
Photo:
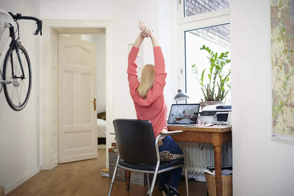
[[[115,119],[116,144],[120,157],[132,164],[156,164],[153,127],[148,120]]]

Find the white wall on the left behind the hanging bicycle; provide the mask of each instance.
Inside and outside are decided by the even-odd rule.
[[[38,0],[0,1],[0,8],[7,12],[21,13],[23,16],[40,17]],[[13,111],[7,104],[4,92],[0,93],[0,186],[6,193],[13,190],[26,179],[37,173],[40,163],[39,103],[39,54],[40,34],[34,36],[37,25],[34,21],[18,21],[21,44],[26,48],[32,66],[32,89],[27,106],[19,112]],[[5,35],[9,34],[6,29]],[[3,47],[4,35],[0,41]],[[5,54],[4,54],[5,55]]]

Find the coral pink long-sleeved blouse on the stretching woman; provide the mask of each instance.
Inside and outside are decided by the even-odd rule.
[[[133,46],[128,58],[127,73],[130,95],[134,100],[137,119],[149,120],[152,123],[154,136],[156,138],[163,129],[168,130],[166,126],[167,106],[163,96],[163,89],[166,83],[164,58],[161,47],[153,47],[155,79],[153,88],[149,89],[147,98],[143,99],[137,92],[137,88],[140,84],[136,65],[138,52],[139,48]]]

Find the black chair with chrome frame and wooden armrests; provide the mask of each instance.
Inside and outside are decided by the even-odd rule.
[[[169,131],[166,134],[158,135],[155,139],[152,124],[148,120],[115,119],[113,125],[118,158],[108,196],[111,196],[118,167],[129,171],[147,173],[148,193],[146,196],[152,196],[157,174],[183,167],[185,169],[187,196],[189,195],[187,168],[184,164],[184,158],[160,162],[158,151],[160,137],[180,134],[182,131]],[[123,161],[119,162],[120,158]],[[151,188],[148,174],[154,174]]]

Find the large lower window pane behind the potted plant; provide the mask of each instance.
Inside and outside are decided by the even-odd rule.
[[[210,54],[205,50],[200,50],[202,46],[209,47],[211,51],[214,51],[220,55],[221,53],[229,52],[227,59],[230,59],[230,24],[218,25],[213,27],[195,29],[185,32],[185,58],[186,58],[186,92],[190,96],[190,99],[187,100],[187,103],[195,103],[195,100],[204,101],[204,95],[201,91],[201,85],[198,80],[201,78],[202,71],[205,70],[203,84],[207,87],[209,83],[209,59]],[[192,68],[192,65],[195,67]],[[195,68],[197,67],[198,74],[194,73]],[[227,63],[224,66],[223,74],[226,75],[231,69],[230,63]],[[231,77],[229,76],[231,79]],[[230,80],[227,83],[230,85]],[[217,88],[217,87],[216,87]],[[225,91],[230,88],[225,85]],[[225,104],[231,104],[231,94],[228,92]]]

